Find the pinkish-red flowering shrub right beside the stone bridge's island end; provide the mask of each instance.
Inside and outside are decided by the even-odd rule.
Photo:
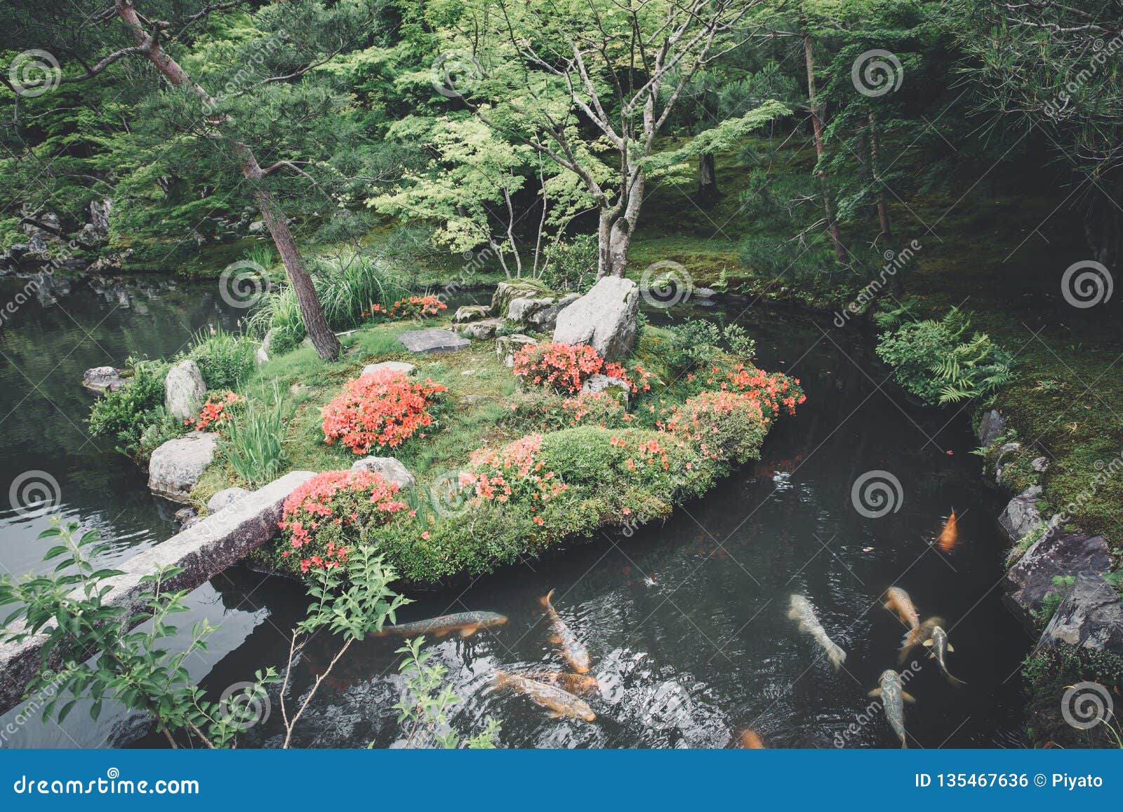
[[[300,562],[300,572],[331,569],[347,550],[377,528],[413,516],[398,499],[399,485],[369,471],[325,471],[285,499],[279,527],[284,531],[281,558]]]

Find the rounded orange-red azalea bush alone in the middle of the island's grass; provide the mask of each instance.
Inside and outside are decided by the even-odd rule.
[[[372,446],[400,446],[418,429],[432,425],[429,403],[435,394],[447,391],[429,378],[411,381],[394,369],[354,377],[320,410],[323,441],[339,440],[355,454],[366,454]]]

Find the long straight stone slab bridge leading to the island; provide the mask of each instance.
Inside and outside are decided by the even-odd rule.
[[[152,584],[141,582],[141,578],[161,567],[183,567],[183,572],[164,582],[165,590],[193,590],[206,583],[276,536],[285,498],[313,476],[316,474],[310,471],[287,473],[190,529],[133,556],[124,564],[116,564],[113,568],[121,574],[106,580],[104,584],[111,589],[102,597],[102,603],[125,606],[130,614],[139,612],[144,609],[143,596],[152,589]],[[82,594],[81,587],[75,590],[75,594]],[[16,623],[9,630],[18,632],[21,628]],[[20,642],[0,646],[0,713],[22,701],[27,683],[43,667],[42,653],[46,641],[45,635],[33,635]],[[46,667],[57,668],[67,654],[70,651],[65,646],[56,646]]]

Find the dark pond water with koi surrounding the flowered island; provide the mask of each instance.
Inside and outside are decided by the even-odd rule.
[[[0,280],[0,300],[22,284]],[[760,463],[664,526],[413,595],[400,620],[468,609],[510,619],[474,637],[429,640],[465,700],[454,727],[469,732],[494,717],[508,747],[728,747],[747,729],[769,747],[893,747],[884,717],[866,714],[866,692],[883,669],[896,667],[902,626],[878,596],[897,585],[922,617],[947,619],[956,648],[950,665],[968,683],[952,688],[916,657],[909,691],[919,702],[905,714],[910,747],[1020,745],[1017,668],[1030,640],[999,602],[1004,546],[994,517],[1001,505],[969,454],[966,416],[909,405],[883,385],[887,371],[860,337],[829,318],[748,304],[696,312],[739,317],[757,339],[761,366],[796,375],[807,393],[800,414],[768,437]],[[47,472],[58,482],[63,513],[101,528],[113,556],[171,536],[174,526],[146,494],[143,476],[85,436],[90,396],[79,386],[81,373],[129,353],[174,353],[193,330],[229,326],[236,316],[222,309],[217,290],[155,280],[75,282],[53,300],[25,304],[0,332],[0,492],[27,471]],[[859,513],[851,498],[853,483],[875,471],[900,483],[896,511],[880,518]],[[957,539],[940,542],[952,509]],[[44,549],[35,535],[45,523],[43,516],[0,513],[0,565],[35,568]],[[604,686],[590,701],[594,722],[550,719],[524,697],[490,688],[499,668],[564,668],[538,602],[551,589]],[[787,618],[793,593],[814,603],[847,651],[842,670],[833,672]],[[214,696],[257,668],[282,666],[287,630],[304,608],[291,582],[240,567],[195,590],[190,603],[181,628],[203,617],[222,626],[207,656],[189,663]],[[399,645],[378,638],[353,647],[296,743],[398,742]],[[309,645],[294,673],[295,695],[334,654],[326,636]],[[15,711],[0,718],[0,730],[11,721],[21,721]],[[276,745],[280,731],[274,695],[272,714],[247,732],[246,743]],[[162,740],[143,720],[117,712],[91,722],[76,710],[62,727],[38,718],[18,724],[0,743],[158,747]]]

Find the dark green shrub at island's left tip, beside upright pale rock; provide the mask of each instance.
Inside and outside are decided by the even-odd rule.
[[[158,445],[157,439],[176,436],[174,421],[164,411],[167,369],[166,362],[130,357],[126,362],[125,385],[117,392],[107,392],[91,408],[90,434],[111,438],[118,451],[134,457],[150,454]]]

